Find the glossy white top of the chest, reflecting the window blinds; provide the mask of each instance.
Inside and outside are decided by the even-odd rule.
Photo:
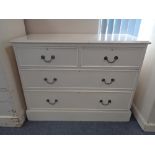
[[[12,43],[67,43],[67,44],[140,44],[140,46],[146,46],[149,41],[141,38],[136,38],[128,34],[112,34],[112,35],[100,35],[100,34],[30,34],[20,38],[11,40]]]

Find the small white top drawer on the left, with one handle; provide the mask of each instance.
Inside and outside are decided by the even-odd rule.
[[[77,48],[15,48],[20,66],[75,67]]]

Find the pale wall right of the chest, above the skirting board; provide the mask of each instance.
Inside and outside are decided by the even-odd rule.
[[[151,41],[140,73],[134,103],[146,123],[155,124],[155,20],[144,20],[141,37]]]

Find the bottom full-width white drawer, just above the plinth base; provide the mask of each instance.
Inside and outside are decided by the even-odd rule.
[[[28,109],[127,110],[132,96],[130,92],[25,91]]]

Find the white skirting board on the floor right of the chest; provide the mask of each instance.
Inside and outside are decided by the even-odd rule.
[[[155,124],[152,123],[148,123],[144,117],[142,116],[142,114],[140,113],[140,111],[138,110],[138,108],[136,107],[135,104],[132,105],[132,111],[133,114],[137,120],[137,122],[139,123],[140,127],[144,130],[144,131],[148,131],[148,132],[155,132]]]

